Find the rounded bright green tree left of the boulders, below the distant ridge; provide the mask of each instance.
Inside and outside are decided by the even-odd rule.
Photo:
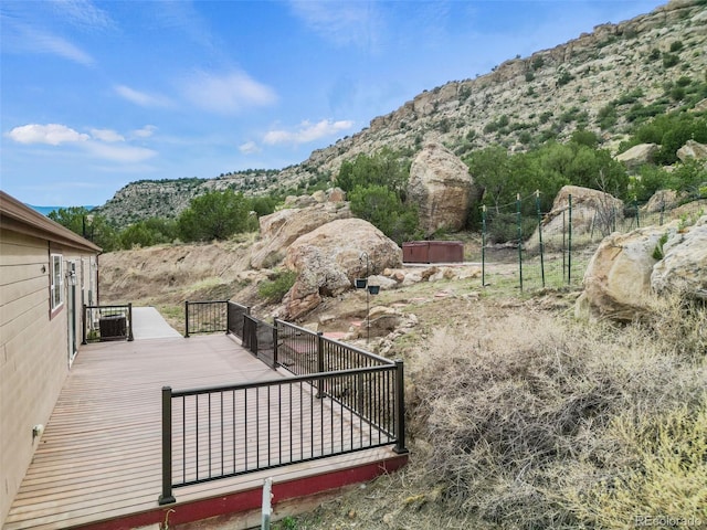
[[[225,240],[249,226],[251,204],[233,190],[197,197],[177,221],[183,241]]]

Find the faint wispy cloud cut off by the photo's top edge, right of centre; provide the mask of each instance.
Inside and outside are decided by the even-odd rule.
[[[292,9],[316,33],[338,45],[374,47],[383,15],[373,2],[294,0]]]

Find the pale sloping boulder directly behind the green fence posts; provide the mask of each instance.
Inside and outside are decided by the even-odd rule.
[[[563,186],[552,202],[552,210],[542,219],[542,240],[548,247],[552,247],[552,241],[569,231],[570,197],[572,237],[588,233],[609,235],[616,221],[623,219],[623,201],[599,190]],[[525,246],[535,250],[538,245],[539,233],[536,229]]]

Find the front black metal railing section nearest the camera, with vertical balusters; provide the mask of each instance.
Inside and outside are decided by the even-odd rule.
[[[407,453],[403,378],[397,361],[229,386],[165,386],[159,504],[175,502],[172,488],[297,462],[390,444]]]

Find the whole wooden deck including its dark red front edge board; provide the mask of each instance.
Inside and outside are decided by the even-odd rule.
[[[403,463],[404,457],[394,455],[389,447],[379,447],[187,486],[175,490],[177,504],[158,506],[161,388],[170,385],[181,390],[285,377],[225,336],[84,347],[64,384],[3,530],[80,526],[136,528],[163,521],[170,509],[175,510],[170,521],[190,522],[257,507],[265,477],[274,479],[274,500],[277,502],[371,478],[382,468],[394,469]],[[266,394],[267,398],[260,398],[260,401],[267,400],[264,410],[271,406],[271,410],[282,411],[282,400],[272,400],[271,404],[270,393]],[[307,392],[303,391],[303,394]],[[285,402],[299,403],[302,399],[298,395]],[[334,430],[356,427],[352,417],[337,415],[336,406],[325,400],[319,402],[317,406],[326,410],[326,415],[320,415],[312,431],[320,433],[320,438],[315,442],[313,436],[309,443],[305,438],[279,439],[277,453],[284,454],[285,460],[292,454],[291,446],[294,452],[310,451],[316,456],[316,444],[325,446],[328,439],[325,426]],[[228,404],[224,406],[232,412],[240,405],[234,399],[232,409],[228,409]],[[240,434],[233,435],[234,439],[236,437]],[[266,456],[250,455],[250,458]],[[226,460],[224,464],[234,465]],[[334,478],[337,473],[342,475]],[[210,499],[213,502],[210,504]]]

